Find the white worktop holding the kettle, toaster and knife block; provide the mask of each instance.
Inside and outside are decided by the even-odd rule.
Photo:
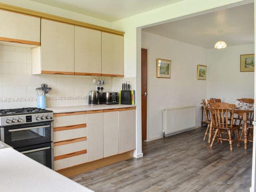
[[[76,105],[76,106],[49,107],[46,109],[52,110],[54,113],[68,113],[68,112],[116,109],[116,108],[126,108],[126,107],[135,107],[135,105],[123,105],[123,104]]]

